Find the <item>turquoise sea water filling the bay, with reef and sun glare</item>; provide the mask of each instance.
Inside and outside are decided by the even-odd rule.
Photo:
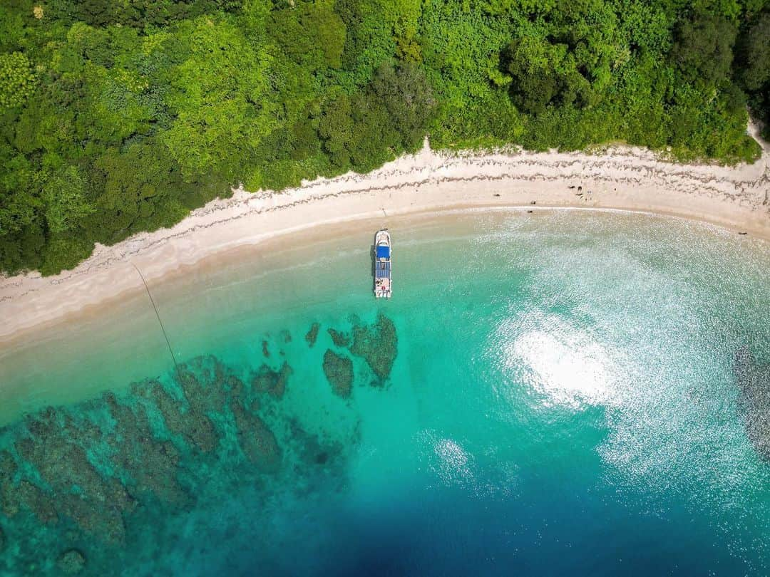
[[[152,283],[178,370],[146,295],[0,353],[4,574],[770,572],[768,243],[393,219],[376,302],[379,225]]]

